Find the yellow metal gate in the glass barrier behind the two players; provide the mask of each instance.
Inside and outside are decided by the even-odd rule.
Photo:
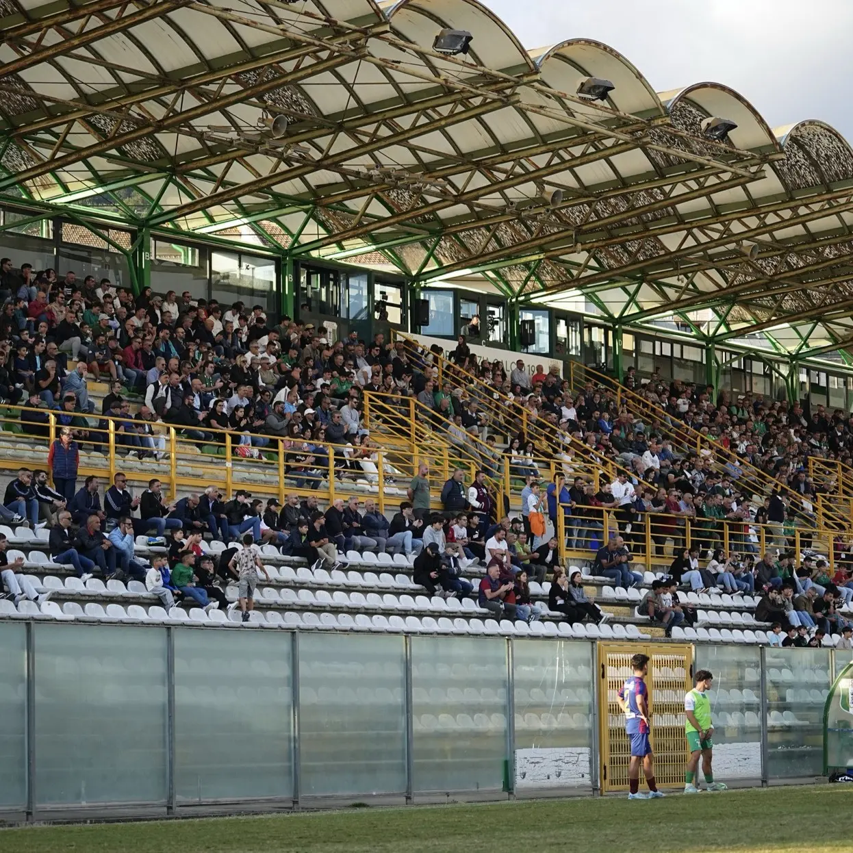
[[[659,646],[600,643],[598,653],[602,792],[628,790],[630,744],[617,693],[625,679],[633,675],[630,660],[637,653],[649,656],[646,686],[652,719],[655,779],[661,787],[683,785],[688,759],[684,694],[693,687],[693,647],[668,645],[662,653]]]

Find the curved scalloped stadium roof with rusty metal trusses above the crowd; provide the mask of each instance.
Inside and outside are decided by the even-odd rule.
[[[0,0],[0,200],[801,355],[853,345],[853,152],[604,44],[525,50],[473,0]],[[432,50],[468,30],[468,55]],[[605,102],[577,96],[612,81]],[[263,119],[287,119],[271,136]],[[731,119],[725,142],[701,122]],[[551,205],[543,195],[560,190]]]

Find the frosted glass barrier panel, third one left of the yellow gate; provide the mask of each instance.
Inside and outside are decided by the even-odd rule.
[[[402,636],[299,635],[300,791],[406,790]]]

